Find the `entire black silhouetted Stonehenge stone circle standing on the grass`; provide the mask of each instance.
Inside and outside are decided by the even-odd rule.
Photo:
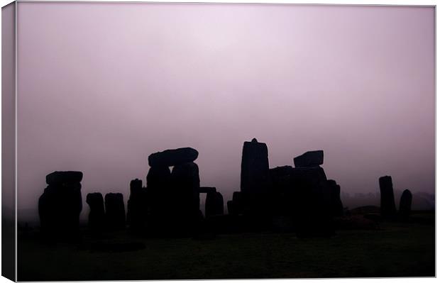
[[[194,148],[177,148],[148,156],[146,185],[129,182],[125,211],[123,194],[87,194],[89,229],[114,231],[126,228],[152,235],[182,236],[210,231],[295,231],[298,237],[334,234],[334,218],[344,215],[341,187],[328,179],[324,151],[313,150],[293,157],[292,165],[270,168],[268,146],[256,138],[243,143],[240,189],[224,199],[216,187],[201,186]],[[41,230],[45,235],[76,235],[82,210],[82,172],[52,172],[38,201]],[[390,176],[379,178],[380,214],[395,216]],[[200,194],[206,194],[204,216]],[[225,215],[225,205],[227,213]],[[407,220],[412,194],[400,198],[399,216]],[[215,223],[221,227],[213,228]],[[104,229],[105,228],[105,229]],[[223,230],[222,230],[223,229]],[[211,233],[211,232],[209,232]],[[202,235],[200,234],[200,235]]]

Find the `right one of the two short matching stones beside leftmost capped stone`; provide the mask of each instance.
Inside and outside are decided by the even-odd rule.
[[[109,228],[125,228],[126,213],[121,193],[109,193],[105,196],[106,222]]]

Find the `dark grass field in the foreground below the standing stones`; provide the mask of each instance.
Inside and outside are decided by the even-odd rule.
[[[212,240],[136,238],[125,231],[82,244],[43,245],[18,238],[18,280],[254,279],[433,277],[434,213],[425,221],[380,223],[379,230],[337,231],[332,238],[295,233],[217,235]],[[141,243],[130,252],[97,243]]]

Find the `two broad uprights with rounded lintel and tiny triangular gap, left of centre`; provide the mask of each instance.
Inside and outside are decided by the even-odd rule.
[[[198,155],[194,148],[177,148],[148,156],[147,200],[143,203],[148,208],[150,230],[189,234],[203,217],[199,209],[199,167],[193,162]]]

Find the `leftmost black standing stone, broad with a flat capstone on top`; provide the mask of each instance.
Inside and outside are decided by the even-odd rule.
[[[38,199],[41,231],[48,238],[73,238],[78,235],[82,210],[82,172],[52,172],[46,176],[48,187]]]

